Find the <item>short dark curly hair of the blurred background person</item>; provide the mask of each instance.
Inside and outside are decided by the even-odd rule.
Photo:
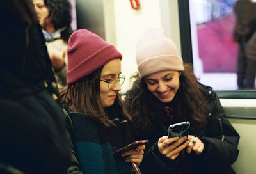
[[[44,0],[45,6],[49,9],[49,16],[52,17],[54,28],[60,29],[70,27],[71,5],[68,0]]]

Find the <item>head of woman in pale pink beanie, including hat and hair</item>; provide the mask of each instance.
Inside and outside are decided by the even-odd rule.
[[[164,112],[166,107],[172,108],[179,120],[195,122],[193,127],[204,126],[204,97],[200,86],[191,65],[183,64],[175,43],[168,38],[164,29],[151,28],[144,31],[136,51],[138,79],[132,90],[127,92],[127,100],[131,100],[128,103],[131,106],[126,108],[128,113],[132,113],[135,100],[141,100],[148,107],[163,108],[158,110],[160,112]],[[134,93],[140,96],[135,97]],[[193,102],[190,102],[192,99]],[[147,113],[145,108],[141,107]],[[154,116],[157,115],[164,116],[164,113]]]

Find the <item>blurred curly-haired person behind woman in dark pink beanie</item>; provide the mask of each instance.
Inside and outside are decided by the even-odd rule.
[[[71,6],[68,0],[33,0],[39,24],[42,26],[58,87],[67,81],[67,43],[70,28]]]

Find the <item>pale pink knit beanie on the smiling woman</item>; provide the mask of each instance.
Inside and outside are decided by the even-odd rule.
[[[137,45],[136,61],[140,78],[163,70],[184,70],[177,47],[163,28],[143,32]]]

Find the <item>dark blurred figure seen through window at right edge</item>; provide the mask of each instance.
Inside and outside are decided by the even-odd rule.
[[[241,90],[254,89],[254,79],[252,79],[252,75],[248,72],[254,71],[256,67],[250,65],[250,60],[248,62],[245,47],[256,31],[256,3],[253,3],[252,0],[238,0],[234,6],[234,11],[236,14],[234,40],[239,44],[237,85]]]

